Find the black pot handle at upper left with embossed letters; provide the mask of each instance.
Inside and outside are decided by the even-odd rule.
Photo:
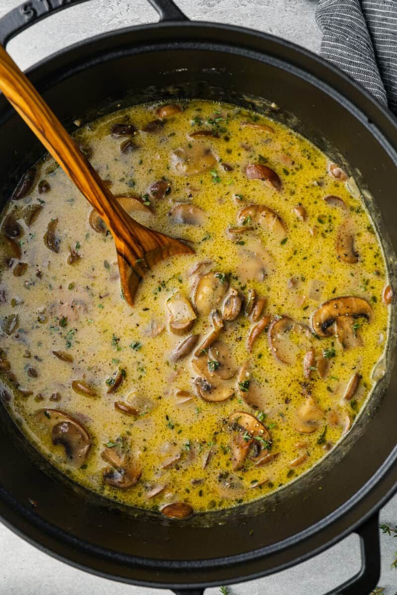
[[[86,0],[30,0],[8,12],[0,18],[0,43],[5,48],[7,43],[42,18],[63,10],[72,4],[80,4]],[[149,0],[158,12],[160,21],[188,21],[173,0]]]

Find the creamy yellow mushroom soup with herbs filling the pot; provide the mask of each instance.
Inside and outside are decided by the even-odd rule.
[[[50,158],[2,214],[1,370],[51,463],[168,516],[264,496],[333,449],[374,386],[392,293],[352,179],[276,121],[189,101],[76,133],[127,212],[194,248],[135,308],[104,222]]]

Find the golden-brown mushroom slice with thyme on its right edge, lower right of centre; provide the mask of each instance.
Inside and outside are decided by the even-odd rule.
[[[254,415],[237,411],[229,415],[229,426],[234,432],[232,440],[233,470],[243,465],[249,450],[254,452],[252,460],[257,461],[271,448],[271,436],[267,428]]]

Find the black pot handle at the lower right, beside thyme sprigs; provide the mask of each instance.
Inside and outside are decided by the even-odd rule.
[[[370,516],[356,533],[360,536],[360,571],[327,595],[362,595],[371,593],[377,585],[380,577],[379,512]]]

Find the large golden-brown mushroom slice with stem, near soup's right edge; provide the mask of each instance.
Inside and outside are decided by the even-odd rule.
[[[312,315],[312,329],[320,337],[335,335],[343,347],[349,349],[362,345],[357,328],[353,328],[355,318],[373,320],[374,311],[363,297],[334,297],[324,302]]]

